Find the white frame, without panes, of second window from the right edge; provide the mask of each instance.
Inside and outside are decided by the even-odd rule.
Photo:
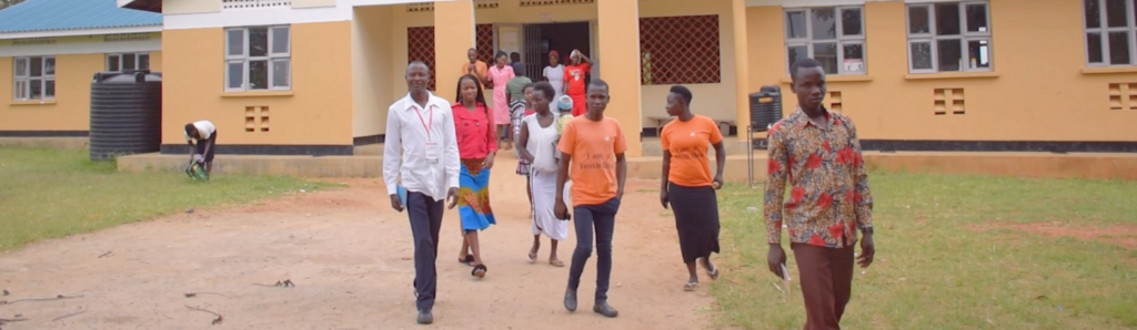
[[[960,7],[960,34],[958,35],[938,35],[939,32],[936,31],[936,6],[945,3],[955,3]],[[968,6],[982,5],[987,14],[987,31],[986,32],[971,32],[968,31]],[[923,7],[928,10],[928,33],[912,33],[912,8]],[[1082,15],[1085,16],[1085,15]],[[938,1],[938,2],[920,2],[920,3],[908,3],[904,7],[904,31],[908,36],[906,43],[906,52],[908,53],[908,73],[910,74],[938,74],[938,73],[988,73],[995,70],[995,42],[991,37],[991,29],[994,24],[991,24],[991,6],[987,0],[982,1]],[[939,70],[939,42],[943,40],[960,40],[960,52],[963,57],[964,62],[960,64],[958,71],[940,71]],[[972,41],[987,41],[987,62],[989,66],[987,68],[971,68],[970,64],[966,62],[969,56],[968,43]],[[913,53],[912,45],[916,43],[929,43],[931,45],[931,68],[930,69],[916,69],[913,67]]]

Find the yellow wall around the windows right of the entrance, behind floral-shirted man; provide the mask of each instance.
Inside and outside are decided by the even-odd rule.
[[[870,82],[838,82],[844,112],[862,138],[996,141],[1137,141],[1137,110],[1110,110],[1109,84],[1137,73],[1084,74],[1080,1],[990,1],[997,77],[908,75],[905,6],[868,2]],[[750,88],[781,84],[789,113],[782,8],[748,9]],[[943,77],[944,75],[941,75]],[[964,74],[964,76],[969,76]],[[918,79],[923,78],[923,79]],[[965,115],[933,115],[935,88],[963,88]]]

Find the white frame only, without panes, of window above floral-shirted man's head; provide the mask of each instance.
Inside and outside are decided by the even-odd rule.
[[[833,9],[835,20],[836,20],[836,39],[824,39],[814,40],[813,39],[813,15],[812,11],[816,9]],[[855,9],[861,12],[861,34],[858,35],[845,35],[843,16],[844,10]],[[802,12],[805,15],[805,37],[790,37],[789,33],[789,14]],[[852,76],[863,76],[869,74],[869,46],[865,43],[865,23],[864,23],[864,7],[863,6],[836,6],[836,7],[802,7],[802,8],[786,8],[782,12],[782,22],[786,28],[786,33],[782,37],[786,40],[786,48],[782,50],[786,54],[786,75],[791,75],[789,67],[794,64],[789,62],[789,49],[805,46],[806,57],[815,58],[813,53],[813,45],[815,43],[833,43],[837,45],[837,73],[830,75],[852,75]],[[847,71],[845,70],[845,45],[860,44],[861,45],[861,58],[863,59],[863,69],[861,71]]]

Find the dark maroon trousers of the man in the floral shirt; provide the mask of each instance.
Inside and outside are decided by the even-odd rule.
[[[853,247],[828,248],[791,244],[797,259],[802,296],[805,297],[805,330],[840,329],[841,314],[853,293]]]

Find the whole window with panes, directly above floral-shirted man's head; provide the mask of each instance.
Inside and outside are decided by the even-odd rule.
[[[803,58],[813,58],[829,75],[865,73],[864,9],[819,7],[786,10],[787,73]]]

